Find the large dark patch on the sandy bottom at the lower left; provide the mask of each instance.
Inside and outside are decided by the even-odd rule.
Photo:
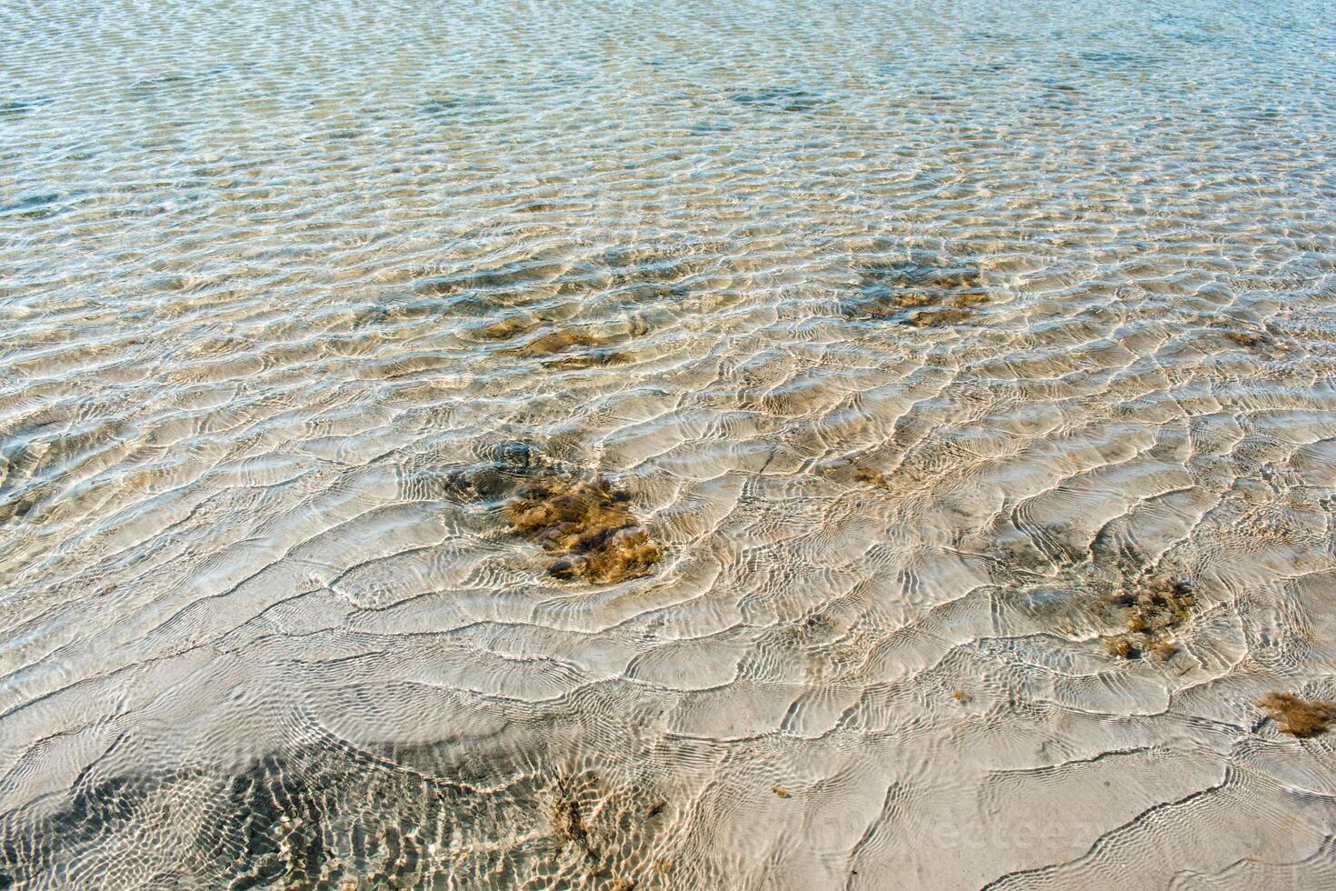
[[[444,767],[442,747],[310,745],[235,772],[77,783],[0,815],[0,888],[644,887],[665,796],[593,769]],[[652,883],[652,882],[651,882]]]

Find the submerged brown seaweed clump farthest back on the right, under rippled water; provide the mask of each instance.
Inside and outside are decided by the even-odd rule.
[[[914,327],[959,325],[990,299],[978,269],[959,264],[874,266],[863,271],[859,291],[862,295],[846,306],[846,314]]]

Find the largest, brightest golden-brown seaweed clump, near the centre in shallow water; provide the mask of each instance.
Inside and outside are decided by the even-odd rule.
[[[557,578],[608,584],[649,573],[663,549],[631,514],[629,497],[607,478],[533,480],[505,505],[512,530],[554,556]]]

